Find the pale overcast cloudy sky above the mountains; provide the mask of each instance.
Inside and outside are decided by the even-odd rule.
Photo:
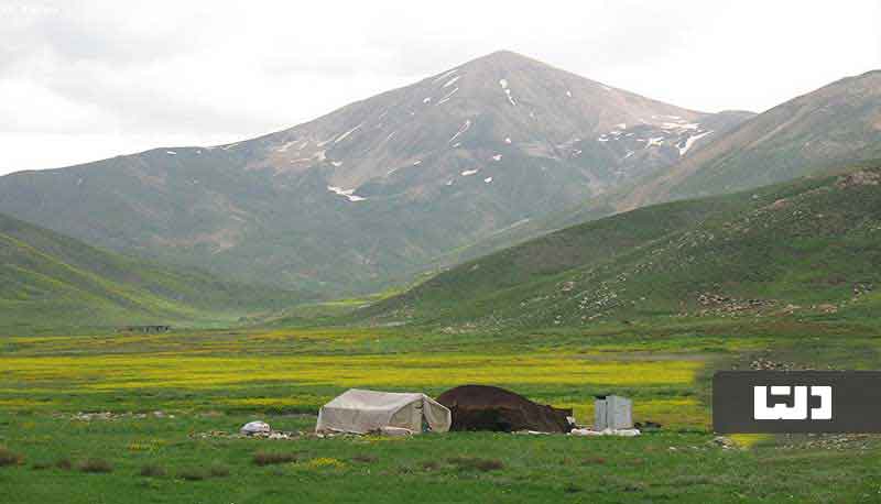
[[[705,111],[881,68],[881,2],[0,0],[0,174],[289,128],[500,48]]]

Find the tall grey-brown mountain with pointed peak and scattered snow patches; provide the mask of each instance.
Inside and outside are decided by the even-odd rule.
[[[258,139],[0,177],[0,211],[238,280],[365,292],[687,160],[749,117],[499,52]]]

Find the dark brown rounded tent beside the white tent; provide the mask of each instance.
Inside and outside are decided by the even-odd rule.
[[[437,396],[453,413],[450,430],[513,432],[568,432],[574,426],[572,409],[557,409],[504,388],[463,385]]]

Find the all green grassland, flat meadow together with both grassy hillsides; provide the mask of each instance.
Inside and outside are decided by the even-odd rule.
[[[881,438],[717,439],[709,408],[717,370],[881,369],[879,184],[875,167],[645,208],[300,305],[0,221],[0,504],[881,502]],[[155,320],[183,328],[115,329]],[[663,427],[311,434],[350,387],[464,384],[581,424],[617,393]],[[229,435],[253,419],[303,434]]]

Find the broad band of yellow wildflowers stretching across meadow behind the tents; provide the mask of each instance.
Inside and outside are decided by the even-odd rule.
[[[695,361],[590,361],[569,355],[182,357],[97,355],[7,358],[6,380],[113,391],[214,388],[254,383],[424,387],[440,384],[652,386],[688,384]]]

